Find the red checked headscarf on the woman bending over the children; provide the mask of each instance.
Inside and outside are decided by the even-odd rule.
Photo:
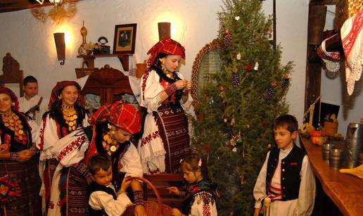
[[[94,115],[91,115],[91,124],[93,125],[106,121],[130,134],[136,134],[141,129],[141,117],[136,112],[135,107],[128,103],[122,103],[122,101],[103,105]]]

